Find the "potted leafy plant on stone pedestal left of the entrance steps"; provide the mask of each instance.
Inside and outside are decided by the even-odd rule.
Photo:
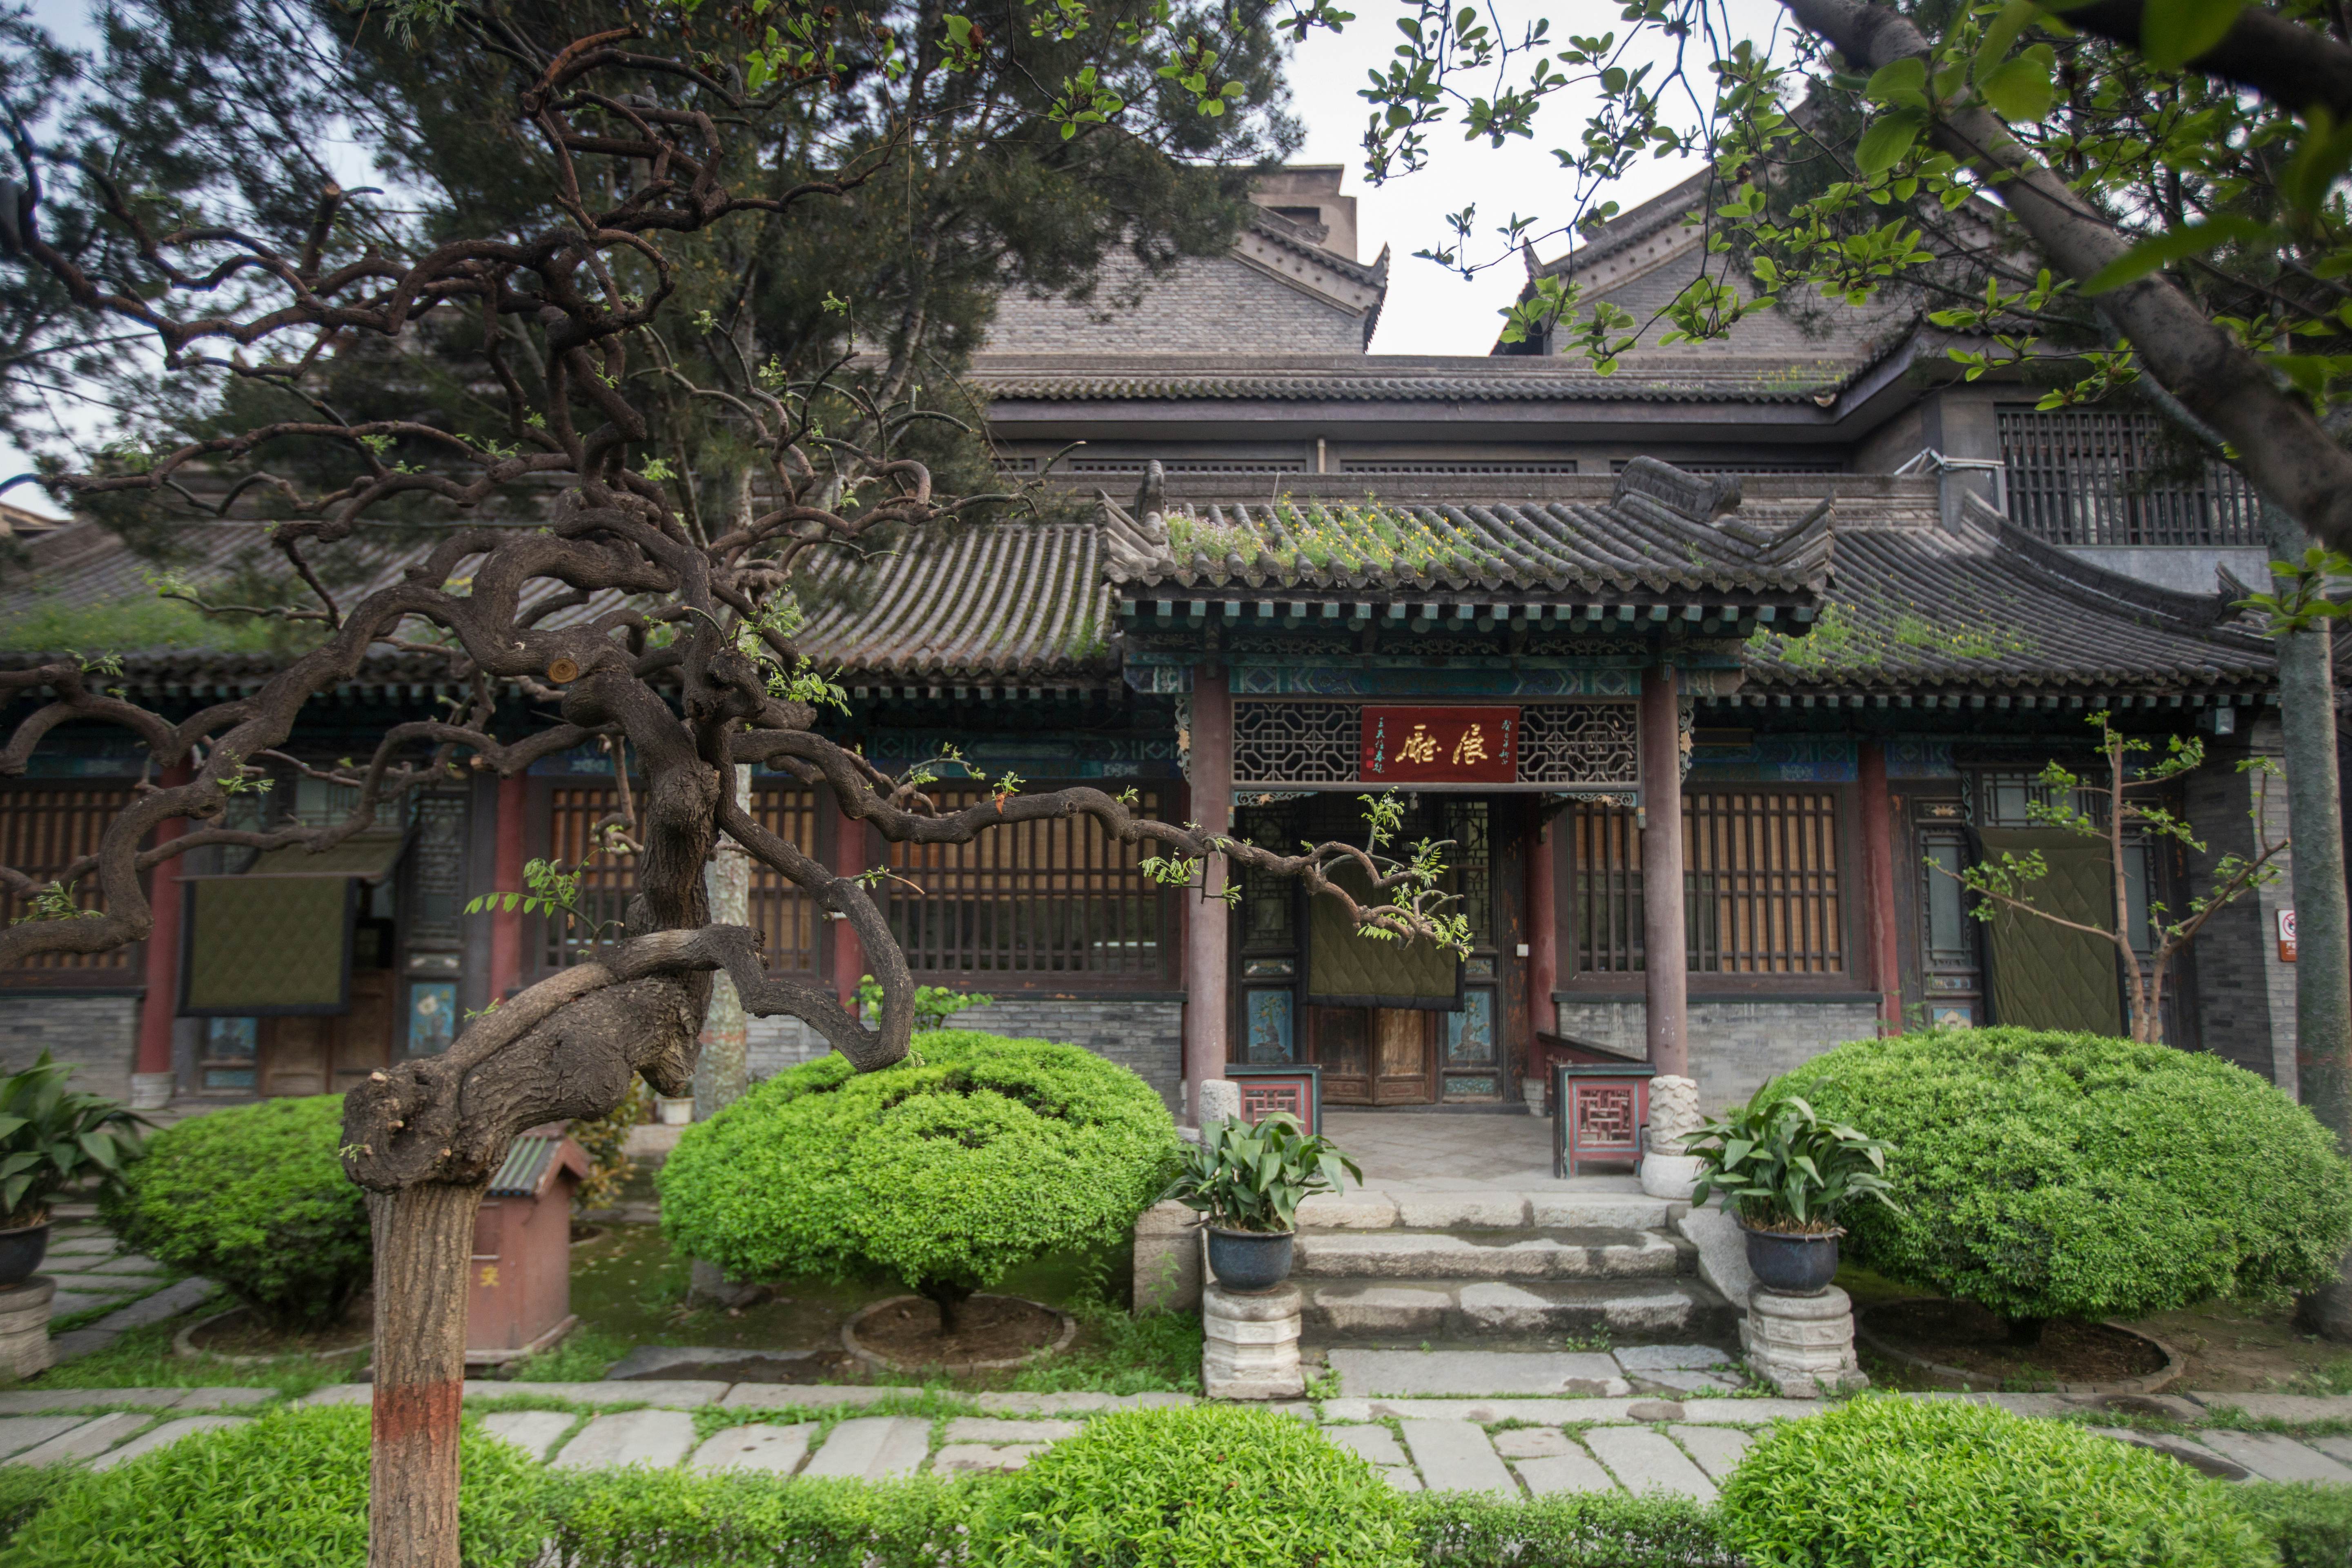
[[[1183,1171],[1162,1192],[1202,1213],[1209,1227],[1209,1272],[1228,1291],[1272,1291],[1291,1274],[1298,1201],[1338,1192],[1341,1173],[1364,1185],[1364,1173],[1322,1133],[1308,1135],[1289,1112],[1256,1126],[1230,1119],[1202,1128],[1185,1150]]]

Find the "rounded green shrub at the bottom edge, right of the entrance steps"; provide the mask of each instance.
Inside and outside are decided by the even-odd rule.
[[[1724,1481],[1757,1568],[2267,1568],[2230,1488],[2150,1448],[1997,1406],[1853,1403],[1773,1427]]]

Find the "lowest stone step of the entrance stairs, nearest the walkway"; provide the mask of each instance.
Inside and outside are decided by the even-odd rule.
[[[1301,1279],[1305,1338],[1489,1340],[1606,1333],[1630,1340],[1724,1340],[1738,1314],[1691,1276],[1668,1279]]]

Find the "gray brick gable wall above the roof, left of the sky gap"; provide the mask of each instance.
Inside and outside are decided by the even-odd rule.
[[[1228,256],[1185,256],[1131,292],[1141,268],[1112,256],[1094,303],[1007,294],[988,327],[993,353],[1265,353],[1359,355],[1364,317],[1310,299]]]

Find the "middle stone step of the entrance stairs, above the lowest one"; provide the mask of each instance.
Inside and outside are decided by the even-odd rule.
[[[1675,1279],[1696,1248],[1653,1229],[1301,1229],[1291,1274],[1315,1279]]]

